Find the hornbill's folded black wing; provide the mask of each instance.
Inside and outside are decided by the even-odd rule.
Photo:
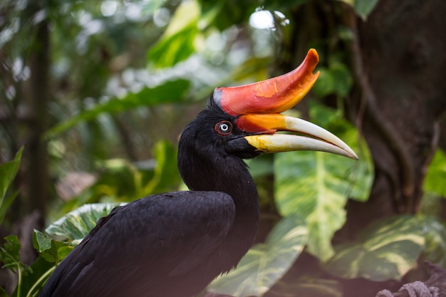
[[[53,295],[41,296],[118,296],[125,288],[169,286],[169,278],[209,261],[234,216],[234,202],[222,192],[158,194],[117,207],[61,262],[46,288]]]

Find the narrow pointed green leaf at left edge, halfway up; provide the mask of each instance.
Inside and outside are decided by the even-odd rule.
[[[19,152],[16,153],[14,160],[0,165],[0,224],[3,222],[6,211],[9,209],[9,205],[11,205],[16,197],[16,194],[11,194],[7,197],[6,192],[19,171],[21,155],[23,152],[24,147],[21,147]]]

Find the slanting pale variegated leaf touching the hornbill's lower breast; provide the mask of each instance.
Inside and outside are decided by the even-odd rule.
[[[212,293],[231,296],[262,296],[276,283],[301,253],[308,230],[298,216],[282,219],[264,244],[256,244],[239,262],[237,269],[209,285]]]

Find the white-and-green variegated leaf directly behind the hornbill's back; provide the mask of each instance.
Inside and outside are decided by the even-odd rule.
[[[58,221],[48,226],[45,231],[51,235],[63,236],[63,238],[74,241],[73,244],[76,244],[96,226],[98,219],[110,214],[112,209],[118,205],[120,204],[85,204],[58,219]]]

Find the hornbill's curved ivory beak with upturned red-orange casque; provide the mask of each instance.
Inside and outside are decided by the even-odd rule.
[[[237,117],[237,127],[247,132],[244,139],[256,151],[319,150],[358,160],[355,152],[331,132],[306,120],[280,114],[299,103],[311,90],[319,74],[313,73],[318,61],[318,53],[310,49],[294,71],[249,85],[216,88],[214,103]],[[299,135],[276,134],[277,131]]]

